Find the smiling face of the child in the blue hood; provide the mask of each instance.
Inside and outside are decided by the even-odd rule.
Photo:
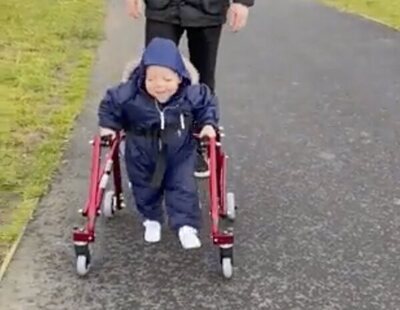
[[[149,66],[146,70],[146,90],[160,103],[168,101],[176,93],[180,82],[178,74],[169,68]]]

